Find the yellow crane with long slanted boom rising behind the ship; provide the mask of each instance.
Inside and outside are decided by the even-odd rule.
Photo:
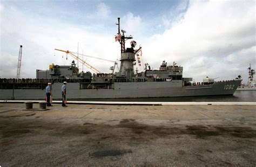
[[[93,59],[99,59],[99,60],[104,60],[104,61],[109,61],[109,62],[113,62],[114,63],[114,66],[111,67],[111,70],[112,70],[112,74],[114,73],[114,68],[116,67],[117,65],[117,62],[116,61],[112,61],[112,60],[106,60],[106,59],[102,59],[100,57],[93,57],[93,56],[89,56],[89,55],[83,55],[83,54],[78,54],[76,52],[71,52],[69,50],[62,50],[62,49],[55,49],[55,50],[58,50],[60,52],[65,52],[66,53],[66,56],[71,55],[73,58],[75,58],[76,60],[78,60],[80,63],[84,64],[86,67],[88,67],[89,69],[91,69],[92,71],[94,71],[96,74],[98,73],[102,73],[100,72],[99,70],[97,70],[96,68],[92,67],[90,64],[88,64],[87,62],[85,62],[84,60],[80,59],[80,57],[76,56],[75,54],[77,55],[81,55],[81,56],[86,56],[86,57],[91,57]]]

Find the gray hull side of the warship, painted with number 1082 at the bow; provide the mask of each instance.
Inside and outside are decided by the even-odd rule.
[[[182,81],[114,83],[113,89],[79,89],[79,83],[68,83],[67,98],[150,98],[233,95],[240,80],[214,82],[209,85],[183,86]],[[62,83],[52,84],[53,99],[62,99]],[[0,89],[0,99],[45,99],[45,89]]]

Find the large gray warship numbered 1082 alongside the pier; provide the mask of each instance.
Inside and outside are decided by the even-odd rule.
[[[48,82],[52,83],[53,98],[62,99],[60,87],[64,81],[68,82],[68,99],[233,95],[237,90],[241,79],[215,82],[207,77],[204,82],[192,83],[192,78],[183,77],[183,67],[176,66],[175,62],[167,66],[163,61],[159,70],[152,70],[146,63],[143,72],[134,72],[142,48],[135,49],[136,41],[131,41],[131,47],[125,48],[125,41],[132,36],[125,36],[123,30],[120,33],[120,18],[117,25],[116,41],[121,46],[118,72],[114,73],[115,66],[109,74],[99,73],[96,69],[96,74],[79,72],[75,61],[70,66],[51,64],[49,70],[36,70],[35,79],[0,79],[0,99],[44,99]],[[93,68],[87,63],[86,66]]]

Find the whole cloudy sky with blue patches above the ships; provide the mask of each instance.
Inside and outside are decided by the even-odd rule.
[[[5,1],[0,2],[0,76],[16,77],[23,45],[21,77],[36,69],[67,65],[55,48],[117,60],[117,17],[127,35],[143,47],[142,62],[158,69],[165,60],[183,66],[184,77],[233,79],[255,69],[255,1]],[[130,46],[127,41],[126,46]],[[84,59],[110,72],[112,63]],[[82,65],[79,65],[82,71]],[[136,67],[135,67],[136,68]],[[137,67],[140,71],[141,67]],[[84,67],[84,71],[86,71]]]

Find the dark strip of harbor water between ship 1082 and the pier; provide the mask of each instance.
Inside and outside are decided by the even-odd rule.
[[[81,101],[167,101],[167,102],[256,102],[256,90],[235,91],[234,95],[165,97],[165,98],[124,98],[124,99],[79,99]]]

